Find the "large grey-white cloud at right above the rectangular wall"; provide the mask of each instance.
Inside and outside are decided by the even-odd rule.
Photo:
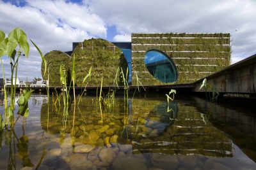
[[[108,6],[108,8],[106,8]],[[256,1],[91,1],[118,32],[232,32],[232,61],[256,53]]]

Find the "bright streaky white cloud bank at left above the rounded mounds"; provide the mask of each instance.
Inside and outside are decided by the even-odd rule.
[[[27,6],[17,7],[0,1],[0,29],[7,36],[12,29],[20,27],[26,32],[28,41],[31,39],[36,43],[43,55],[51,50],[70,51],[72,42],[75,41],[92,37],[106,39],[107,27],[104,20],[91,13],[85,4],[45,0],[29,0],[27,3]],[[29,45],[29,59],[19,60],[18,76],[28,75],[31,81],[34,77],[42,75],[41,57],[30,41]],[[10,76],[8,63],[4,64],[5,76]]]

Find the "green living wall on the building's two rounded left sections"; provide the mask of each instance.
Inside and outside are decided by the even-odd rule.
[[[117,46],[104,39],[88,39],[79,43],[70,57],[67,53],[54,50],[45,54],[47,61],[47,73],[44,74],[44,65],[41,65],[42,76],[48,80],[49,86],[60,87],[60,66],[65,65],[67,85],[71,83],[73,59],[75,58],[76,86],[100,87],[124,85],[122,73],[126,76],[127,61],[124,54]],[[90,81],[84,81],[84,77],[92,67]]]

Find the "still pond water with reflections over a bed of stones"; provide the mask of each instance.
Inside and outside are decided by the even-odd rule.
[[[0,132],[0,169],[256,167],[256,115],[249,100],[210,103],[177,95],[168,104],[165,94],[141,94],[116,96],[108,106],[84,96],[78,106],[70,104],[68,115],[52,101],[56,97],[33,94],[25,125],[20,118],[14,131]]]

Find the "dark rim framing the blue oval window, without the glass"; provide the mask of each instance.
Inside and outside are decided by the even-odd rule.
[[[151,73],[151,72],[148,70],[148,67],[147,67],[146,62],[145,62],[145,58],[146,58],[146,55],[147,55],[148,52],[157,52],[157,53],[160,53],[161,55],[163,55],[163,57],[165,57],[165,58],[168,60],[168,62],[170,62],[171,66],[172,66],[172,70],[175,71],[175,80],[174,80],[174,81],[170,81],[170,82],[162,81],[161,79],[157,78],[157,76],[154,75],[154,73]],[[145,66],[147,67],[148,73],[150,73],[152,76],[154,76],[154,78],[155,78],[156,80],[159,80],[159,81],[161,81],[162,83],[175,83],[175,82],[178,80],[178,78],[179,78],[179,74],[178,74],[178,71],[177,71],[177,67],[176,67],[175,62],[173,62],[172,58],[171,58],[167,53],[165,53],[165,52],[163,52],[163,51],[161,51],[161,50],[157,50],[157,49],[150,49],[150,50],[148,50],[148,51],[145,53],[145,55],[144,55],[144,64],[145,64]],[[154,66],[154,67],[157,67],[157,65]],[[164,79],[164,80],[166,80],[166,79]]]

